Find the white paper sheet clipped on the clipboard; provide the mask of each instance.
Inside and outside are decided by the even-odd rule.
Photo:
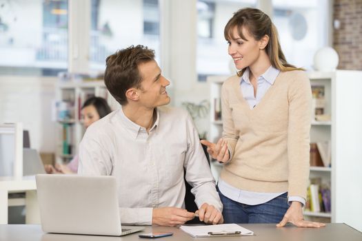
[[[253,231],[245,229],[238,224],[217,224],[217,225],[201,225],[201,226],[181,226],[180,229],[192,237],[211,237],[209,232],[235,232],[240,231],[241,235],[254,235]]]

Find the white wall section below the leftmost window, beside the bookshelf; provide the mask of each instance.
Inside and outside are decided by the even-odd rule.
[[[51,106],[57,78],[0,76],[0,123],[23,123],[30,145],[41,152],[54,152],[55,123]]]

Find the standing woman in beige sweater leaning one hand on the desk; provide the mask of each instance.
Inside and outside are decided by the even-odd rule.
[[[276,28],[261,10],[234,13],[224,35],[239,72],[221,90],[223,138],[201,143],[224,164],[218,188],[225,222],[325,226],[303,220],[312,100],[308,77],[285,60]]]

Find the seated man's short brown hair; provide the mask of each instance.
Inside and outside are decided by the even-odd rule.
[[[117,50],[105,59],[104,83],[112,96],[121,104],[127,103],[125,92],[131,87],[141,87],[138,65],[154,60],[154,50],[143,45],[131,45]]]

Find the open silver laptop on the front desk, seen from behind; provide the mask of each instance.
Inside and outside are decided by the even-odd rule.
[[[143,227],[121,225],[113,176],[35,176],[41,228],[47,233],[121,236]]]

